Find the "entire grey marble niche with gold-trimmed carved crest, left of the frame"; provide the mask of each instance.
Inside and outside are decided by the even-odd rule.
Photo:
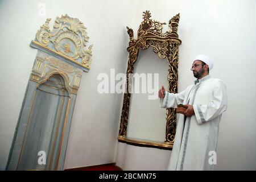
[[[11,146],[7,170],[63,170],[76,95],[92,61],[86,28],[67,14],[40,26],[38,49]]]

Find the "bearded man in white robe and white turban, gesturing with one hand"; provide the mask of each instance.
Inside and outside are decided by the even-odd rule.
[[[209,57],[198,55],[194,60],[194,84],[176,94],[166,92],[163,86],[159,90],[161,107],[188,106],[177,121],[168,170],[213,170],[216,164],[218,128],[227,108],[226,86],[210,77],[213,63]]]

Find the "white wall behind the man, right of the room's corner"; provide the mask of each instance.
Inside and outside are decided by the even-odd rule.
[[[212,57],[214,68],[210,75],[226,82],[228,110],[220,123],[215,170],[255,170],[256,1],[136,1],[135,6],[133,25],[129,26],[134,31],[138,30],[145,10],[151,11],[152,19],[166,23],[180,13],[179,91],[192,84],[190,68],[198,54]],[[133,158],[148,154],[151,148],[137,150],[140,152],[134,152],[130,159],[120,160],[117,155],[117,164],[123,169],[144,169],[144,164]],[[161,155],[155,152],[159,154],[154,155],[156,162]],[[143,159],[152,162],[147,156]]]

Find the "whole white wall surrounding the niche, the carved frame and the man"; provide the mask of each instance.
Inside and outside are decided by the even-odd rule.
[[[46,3],[44,17],[38,15],[40,2]],[[0,169],[5,169],[36,56],[36,49],[29,47],[30,41],[46,18],[52,18],[53,24],[56,16],[66,13],[85,24],[89,43],[94,47],[92,69],[82,75],[77,94],[64,168],[115,161],[123,169],[167,167],[170,151],[125,147],[126,144],[116,148],[122,94],[97,92],[98,74],[109,74],[111,68],[116,73],[126,72],[129,42],[126,26],[133,28],[136,36],[145,10],[151,11],[152,19],[166,23],[180,13],[179,90],[193,81],[189,68],[192,59],[200,53],[215,62],[210,75],[226,82],[228,110],[220,124],[216,169],[256,169],[254,0],[0,1]],[[150,162],[144,168],[143,161],[148,159]],[[162,161],[162,167],[159,163],[153,166],[158,160]]]

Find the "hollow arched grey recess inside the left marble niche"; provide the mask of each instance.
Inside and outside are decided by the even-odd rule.
[[[51,75],[38,85],[20,151],[18,170],[57,169],[69,102],[69,93],[61,75]],[[39,151],[42,157],[48,154],[45,156],[46,165],[38,163]],[[43,163],[43,158],[41,160]]]

